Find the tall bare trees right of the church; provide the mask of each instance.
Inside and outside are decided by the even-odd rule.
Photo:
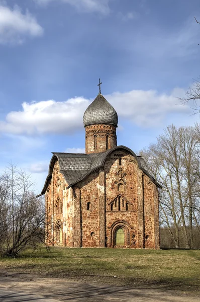
[[[141,152],[151,173],[167,189],[160,192],[160,218],[176,248],[193,247],[193,226],[196,232],[200,225],[199,147],[193,127],[171,125]]]

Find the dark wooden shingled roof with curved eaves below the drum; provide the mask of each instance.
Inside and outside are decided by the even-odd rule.
[[[147,174],[159,188],[161,188],[161,186],[155,181],[155,179],[148,173],[147,164],[144,159],[142,157],[137,157],[131,149],[121,145],[109,149],[106,152],[94,154],[53,153],[53,157],[49,165],[49,174],[46,178],[44,188],[42,189],[40,195],[43,195],[46,192],[46,189],[52,178],[53,168],[56,160],[59,161],[60,172],[63,174],[68,184],[67,188],[69,188],[86,178],[91,172],[102,168],[109,154],[117,149],[128,150],[137,160],[139,168],[145,174]]]

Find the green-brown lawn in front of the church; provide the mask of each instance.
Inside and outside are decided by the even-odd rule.
[[[200,250],[51,248],[0,258],[0,269],[199,294]]]

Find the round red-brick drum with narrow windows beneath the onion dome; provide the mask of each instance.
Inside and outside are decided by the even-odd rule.
[[[95,138],[96,136],[96,138]],[[85,153],[105,152],[117,146],[116,127],[99,124],[85,127]]]

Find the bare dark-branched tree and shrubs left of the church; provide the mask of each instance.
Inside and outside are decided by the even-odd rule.
[[[10,165],[0,177],[0,254],[17,256],[45,243],[44,200],[36,198],[30,175]]]

